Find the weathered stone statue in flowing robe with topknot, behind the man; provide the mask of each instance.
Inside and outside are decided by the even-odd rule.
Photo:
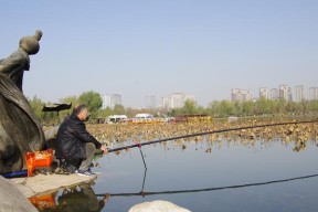
[[[30,68],[29,55],[40,50],[41,31],[20,40],[19,49],[0,60],[0,172],[26,169],[26,151],[41,150],[44,134],[39,118],[22,92],[24,71]]]

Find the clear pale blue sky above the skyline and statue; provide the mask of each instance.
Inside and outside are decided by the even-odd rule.
[[[14,0],[1,3],[0,59],[40,29],[23,93],[60,102],[84,92],[194,95],[199,105],[232,88],[318,86],[317,0]]]

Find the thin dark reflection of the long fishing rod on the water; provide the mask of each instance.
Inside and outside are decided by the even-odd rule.
[[[208,189],[194,189],[194,190],[177,190],[177,191],[158,191],[158,192],[144,192],[142,190],[137,193],[110,193],[110,197],[131,197],[131,195],[156,195],[156,194],[174,194],[174,193],[197,193],[197,192],[204,192],[204,191],[218,191],[218,190],[226,190],[226,189],[241,189],[246,187],[258,187],[258,186],[265,186],[265,184],[273,184],[273,183],[279,183],[279,182],[287,182],[287,181],[294,181],[294,180],[301,180],[301,179],[308,179],[308,178],[315,178],[318,177],[317,174],[311,176],[304,176],[304,177],[297,177],[297,178],[289,178],[289,179],[283,179],[283,180],[272,180],[266,182],[256,182],[256,183],[247,183],[247,184],[235,184],[235,186],[229,186],[229,187],[215,187],[215,188],[208,188]],[[105,197],[104,194],[96,194],[97,197]]]

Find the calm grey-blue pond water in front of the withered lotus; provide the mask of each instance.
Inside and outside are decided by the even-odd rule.
[[[314,141],[299,152],[280,141],[183,145],[144,146],[146,174],[138,148],[96,158],[94,162],[100,167],[94,171],[102,174],[93,190],[82,188],[85,195],[59,191],[55,203],[62,211],[88,211],[96,208],[97,200],[105,212],[128,211],[134,204],[152,200],[199,212],[318,211],[318,148]],[[299,177],[308,178],[295,179]],[[140,195],[141,191],[146,195]],[[103,205],[105,193],[110,198]]]

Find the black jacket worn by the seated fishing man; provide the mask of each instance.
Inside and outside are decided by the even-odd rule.
[[[84,159],[86,158],[85,142],[93,142],[96,149],[102,146],[86,130],[85,124],[72,114],[63,120],[59,128],[55,157],[61,159]]]

